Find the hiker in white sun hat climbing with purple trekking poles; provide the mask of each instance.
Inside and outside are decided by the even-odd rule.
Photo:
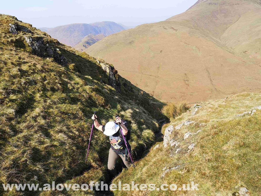
[[[100,125],[97,121],[97,115],[95,115],[94,117],[93,114],[92,119],[94,120],[95,128],[102,131],[105,135],[109,136],[111,147],[110,147],[109,158],[108,158],[108,170],[110,171],[112,177],[115,177],[117,175],[115,171],[115,165],[119,157],[121,157],[123,163],[127,168],[131,166],[131,158],[127,151],[126,145],[124,143],[123,137],[120,132],[120,127],[118,125],[118,123],[120,123],[122,133],[125,136],[125,138],[127,138],[128,128],[124,125],[127,122],[126,121],[123,122],[123,120],[121,120],[120,117],[116,116],[114,121],[110,121],[105,125]],[[131,153],[131,146],[129,145],[128,141],[127,141],[127,146]]]

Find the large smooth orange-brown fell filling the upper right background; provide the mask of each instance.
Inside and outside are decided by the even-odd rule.
[[[166,102],[260,91],[260,11],[256,0],[198,1],[182,14],[112,34],[84,51]]]

